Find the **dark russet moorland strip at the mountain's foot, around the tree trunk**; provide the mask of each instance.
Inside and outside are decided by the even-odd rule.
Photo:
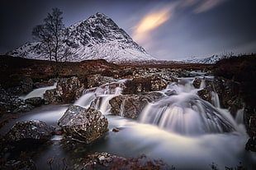
[[[0,84],[3,88],[17,86],[21,77],[30,77],[34,82],[55,78],[52,62],[21,57],[0,56]],[[59,77],[101,73],[106,69],[116,69],[117,65],[105,60],[86,60],[83,62],[58,62]]]

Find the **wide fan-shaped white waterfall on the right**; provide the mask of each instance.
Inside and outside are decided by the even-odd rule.
[[[195,90],[187,88],[190,82],[187,84],[169,85],[168,90],[176,93],[149,103],[140,114],[140,122],[182,135],[237,131],[230,113],[200,99]]]

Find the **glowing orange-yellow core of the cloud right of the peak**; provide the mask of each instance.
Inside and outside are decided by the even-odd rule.
[[[149,33],[155,30],[159,25],[163,25],[173,14],[173,6],[162,7],[146,14],[137,25],[135,25],[132,37],[135,41],[144,42],[149,38]]]

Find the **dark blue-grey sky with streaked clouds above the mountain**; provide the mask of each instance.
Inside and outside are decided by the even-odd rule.
[[[0,54],[31,41],[31,30],[58,7],[67,27],[97,11],[111,17],[159,59],[256,53],[255,0],[2,0]]]

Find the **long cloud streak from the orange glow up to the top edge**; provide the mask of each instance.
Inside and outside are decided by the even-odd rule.
[[[166,3],[157,10],[147,13],[133,28],[132,38],[139,44],[148,44],[152,30],[155,30],[164,22],[176,15],[176,11],[182,8],[189,9],[193,13],[209,11],[220,3],[227,0],[179,0],[177,2]]]

